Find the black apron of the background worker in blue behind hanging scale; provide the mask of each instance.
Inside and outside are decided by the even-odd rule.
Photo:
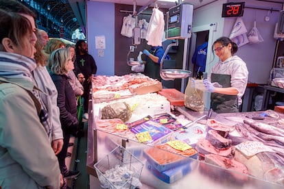
[[[154,51],[150,51],[150,53],[152,53],[152,55],[155,55],[156,50],[157,49],[155,49]],[[158,79],[158,81],[161,81],[160,64],[153,62],[151,58],[147,57],[145,64],[145,75],[153,79]]]

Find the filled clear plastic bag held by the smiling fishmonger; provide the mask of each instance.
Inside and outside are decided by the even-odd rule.
[[[202,80],[189,78],[185,89],[185,107],[196,112],[204,111],[203,91],[200,90],[200,81]]]

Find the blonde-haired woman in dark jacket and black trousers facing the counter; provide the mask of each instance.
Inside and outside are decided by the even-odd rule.
[[[79,129],[75,93],[68,81],[68,73],[73,71],[74,64],[69,49],[53,51],[47,62],[51,78],[58,91],[57,105],[60,110],[60,122],[63,131],[63,147],[57,155],[60,171],[66,179],[75,178],[80,172],[68,171],[65,164],[70,135]]]

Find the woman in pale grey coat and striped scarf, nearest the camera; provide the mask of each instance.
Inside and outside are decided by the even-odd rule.
[[[0,186],[59,188],[51,128],[32,78],[34,18],[3,10],[0,18]]]

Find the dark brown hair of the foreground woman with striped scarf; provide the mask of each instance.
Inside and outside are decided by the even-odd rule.
[[[29,20],[20,14],[7,12],[2,9],[0,9],[0,18],[0,41],[3,38],[10,38],[14,45],[23,48],[23,37],[27,35],[32,36],[33,32]],[[5,51],[2,45],[0,45],[0,51]]]

